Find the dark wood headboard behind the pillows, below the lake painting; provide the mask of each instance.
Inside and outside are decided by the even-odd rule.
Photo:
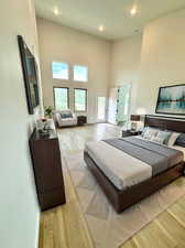
[[[171,118],[164,116],[146,115],[144,127],[160,128],[162,130],[172,130],[176,132],[185,132],[185,118]]]

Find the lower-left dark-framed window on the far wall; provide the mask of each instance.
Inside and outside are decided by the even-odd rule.
[[[55,109],[57,110],[68,109],[68,88],[54,87],[54,100],[55,100]]]

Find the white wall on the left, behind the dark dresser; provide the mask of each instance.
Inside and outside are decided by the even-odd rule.
[[[0,247],[36,248],[40,211],[29,134],[40,116],[29,116],[17,35],[37,57],[31,0],[1,1],[0,8]]]

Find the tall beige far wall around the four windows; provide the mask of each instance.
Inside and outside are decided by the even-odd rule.
[[[97,121],[97,96],[107,96],[110,78],[110,43],[43,19],[37,19],[44,105],[54,106],[53,86],[88,88],[88,122]],[[52,62],[89,68],[88,83],[52,78]],[[70,97],[74,108],[74,96]]]

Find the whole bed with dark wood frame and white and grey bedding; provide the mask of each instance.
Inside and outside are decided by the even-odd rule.
[[[145,127],[151,128],[159,128],[161,130],[172,130],[176,132],[185,132],[185,120],[178,119],[178,118],[166,118],[166,117],[157,117],[157,116],[145,116],[144,121]],[[138,140],[135,140],[138,139]],[[84,159],[86,164],[88,165],[89,170],[96,177],[97,182],[104,190],[105,194],[107,195],[110,203],[113,205],[117,213],[121,213],[127,207],[138,203],[142,198],[149,196],[150,194],[154,193],[155,191],[160,190],[161,187],[167,185],[168,183],[173,182],[177,177],[182,176],[184,173],[184,166],[185,162],[182,159],[182,154],[184,152],[184,148],[181,147],[174,147],[172,149],[168,148],[162,148],[164,149],[164,154],[170,154],[167,157],[167,165],[165,164],[164,169],[161,170],[163,159],[159,157],[159,163],[157,164],[148,164],[145,161],[142,161],[142,158],[140,158],[141,154],[146,154],[146,148],[148,143],[145,141],[139,140],[140,138],[137,137],[130,137],[127,139],[118,139],[119,142],[121,142],[121,149],[128,150],[127,155],[124,153],[124,157],[122,155],[122,151],[119,147],[117,148],[117,140],[110,140],[110,141],[100,141],[96,143],[97,148],[94,145],[94,150],[101,151],[100,159],[106,161],[106,157],[110,158],[109,161],[107,159],[107,163],[109,163],[109,166],[111,166],[111,163],[113,164],[115,173],[110,173],[109,166],[107,165],[107,171],[105,168],[101,166],[99,160],[96,158],[95,154],[92,154],[92,149],[90,150],[90,145],[86,148],[84,152]],[[104,142],[104,143],[101,143]],[[111,143],[112,142],[112,143]],[[138,148],[130,151],[130,145],[135,145],[138,143]],[[150,143],[150,142],[149,142]],[[152,142],[151,142],[152,143]],[[111,144],[111,145],[110,145]],[[104,148],[101,148],[101,145]],[[120,144],[119,144],[120,145]],[[153,145],[153,144],[150,144]],[[142,150],[140,150],[142,147]],[[106,148],[106,150],[105,150]],[[160,148],[157,148],[157,144],[154,144],[154,148],[152,149],[157,151]],[[178,152],[175,152],[175,150]],[[119,150],[119,151],[118,151]],[[104,154],[105,152],[105,154]],[[107,154],[107,155],[106,155]],[[128,157],[128,158],[127,158]],[[152,154],[146,154],[148,160],[152,161]],[[119,159],[118,159],[119,158]],[[168,159],[170,158],[170,159]],[[146,160],[146,161],[148,161]],[[128,175],[120,179],[113,176],[113,174],[123,174],[122,171],[120,171],[121,163],[129,163],[128,166]],[[134,168],[134,164],[137,164],[138,171],[134,172],[134,175],[131,175],[132,166]],[[117,165],[117,166],[116,166]],[[135,169],[134,169],[135,170]],[[161,171],[160,171],[161,170]],[[126,174],[127,174],[126,173]]]

